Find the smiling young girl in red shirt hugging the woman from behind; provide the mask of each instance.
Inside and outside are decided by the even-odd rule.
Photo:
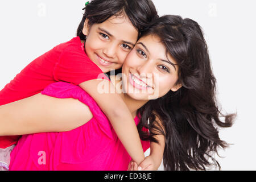
[[[143,150],[129,109],[117,94],[98,93],[100,82],[110,82],[108,78],[105,81],[97,78],[102,72],[121,68],[140,32],[156,16],[155,6],[150,0],[91,1],[85,7],[77,38],[56,46],[32,61],[1,90],[0,105],[38,94],[56,81],[79,85],[108,116],[131,157],[141,163]],[[111,84],[109,86],[110,89],[113,87]],[[109,102],[112,102],[111,106]],[[2,166],[6,167],[8,155],[5,154],[10,152],[18,138],[0,138]]]

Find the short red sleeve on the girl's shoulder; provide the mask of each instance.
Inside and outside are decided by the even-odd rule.
[[[53,77],[56,81],[75,85],[97,78],[109,80],[84,52],[73,47],[65,49],[61,54],[60,60],[55,65]]]

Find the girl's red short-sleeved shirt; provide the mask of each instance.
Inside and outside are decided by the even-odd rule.
[[[54,47],[27,65],[0,91],[0,105],[22,100],[42,92],[57,81],[79,85],[102,74],[84,51],[79,37]],[[0,148],[15,144],[20,136],[0,137]]]

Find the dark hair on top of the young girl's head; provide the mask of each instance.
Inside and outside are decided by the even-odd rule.
[[[158,17],[155,5],[151,0],[93,0],[85,7],[85,13],[77,29],[77,36],[85,39],[82,34],[85,19],[89,25],[103,23],[111,16],[126,14],[139,34],[148,24]]]

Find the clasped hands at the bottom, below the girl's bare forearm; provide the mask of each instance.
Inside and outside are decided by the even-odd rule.
[[[138,166],[133,160],[130,161],[128,171],[157,171],[159,166],[156,164],[154,157],[147,156]]]

